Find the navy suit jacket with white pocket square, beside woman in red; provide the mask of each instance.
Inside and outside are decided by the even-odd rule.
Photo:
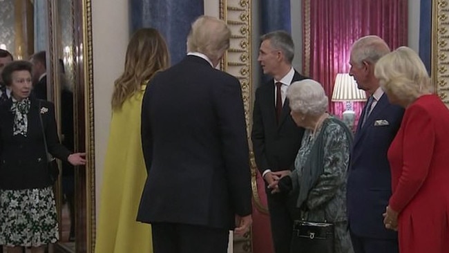
[[[390,104],[386,94],[382,95],[361,127],[365,111],[366,108],[354,137],[347,180],[350,228],[357,236],[396,238],[396,232],[385,229],[382,214],[392,194],[387,151],[399,129],[404,111]],[[388,125],[375,126],[376,120],[386,120]]]

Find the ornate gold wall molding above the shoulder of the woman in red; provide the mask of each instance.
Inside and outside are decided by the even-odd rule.
[[[432,83],[449,106],[449,1],[432,1]]]

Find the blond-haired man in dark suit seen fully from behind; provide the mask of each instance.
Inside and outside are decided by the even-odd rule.
[[[157,73],[142,102],[148,178],[137,221],[151,223],[155,253],[227,252],[229,230],[251,225],[251,171],[240,82],[219,71],[231,30],[202,16],[188,54]]]

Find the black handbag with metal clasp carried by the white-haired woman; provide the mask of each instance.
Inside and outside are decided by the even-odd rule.
[[[294,221],[291,253],[334,253],[334,224]]]

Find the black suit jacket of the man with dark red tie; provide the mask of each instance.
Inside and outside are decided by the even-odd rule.
[[[302,79],[306,77],[295,71],[292,82]],[[290,116],[287,98],[278,125],[274,89],[274,81],[271,79],[257,89],[254,101],[251,140],[260,174],[265,169],[271,171],[294,169],[294,160],[304,134],[304,129],[296,126]]]

